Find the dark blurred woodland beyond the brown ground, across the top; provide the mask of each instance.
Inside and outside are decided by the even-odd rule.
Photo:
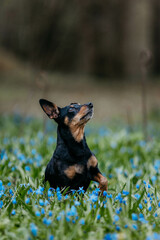
[[[2,0],[0,44],[41,69],[108,77],[136,75],[153,48],[158,72],[159,11],[158,0]]]

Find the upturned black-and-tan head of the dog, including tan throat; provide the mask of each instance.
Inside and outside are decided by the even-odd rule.
[[[84,126],[93,116],[92,103],[83,105],[71,103],[63,108],[57,107],[56,104],[45,99],[40,99],[39,103],[50,119],[54,119],[61,126],[69,127],[76,141],[82,140]]]

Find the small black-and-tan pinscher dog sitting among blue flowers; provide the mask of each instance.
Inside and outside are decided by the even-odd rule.
[[[45,170],[45,182],[52,188],[86,191],[91,181],[107,191],[107,179],[98,168],[98,161],[89,149],[84,127],[93,116],[93,104],[71,103],[60,108],[45,99],[39,103],[50,119],[58,124],[57,145]]]

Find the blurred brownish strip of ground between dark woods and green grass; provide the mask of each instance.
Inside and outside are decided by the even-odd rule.
[[[130,81],[95,79],[77,74],[43,72],[0,50],[0,113],[19,112],[42,117],[38,100],[47,98],[59,106],[93,102],[94,121],[113,118],[133,123],[141,119],[141,77]],[[106,81],[105,81],[106,80]],[[159,114],[160,83],[147,82],[148,115]]]

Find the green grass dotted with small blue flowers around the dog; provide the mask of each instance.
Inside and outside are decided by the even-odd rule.
[[[0,118],[0,239],[160,239],[159,131],[90,125],[90,148],[109,180],[71,195],[44,187],[56,124],[19,115]]]

